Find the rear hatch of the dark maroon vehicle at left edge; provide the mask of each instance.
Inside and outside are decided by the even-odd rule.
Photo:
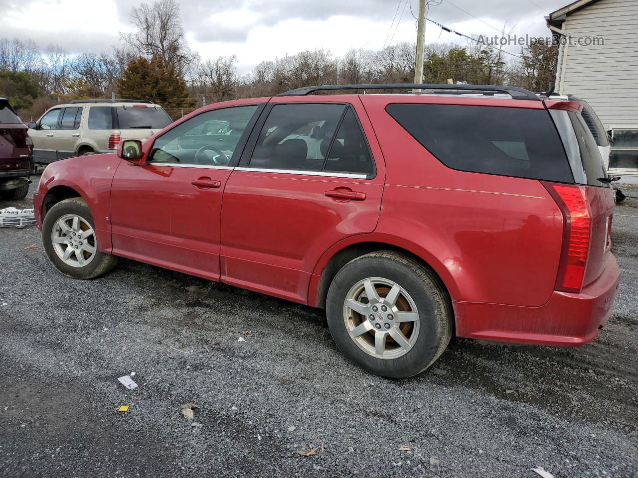
[[[33,142],[6,99],[0,98],[0,171],[29,171]]]

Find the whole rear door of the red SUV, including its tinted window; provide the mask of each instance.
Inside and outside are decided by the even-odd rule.
[[[221,280],[306,303],[322,254],[375,229],[385,167],[358,98],[271,102],[226,184]]]

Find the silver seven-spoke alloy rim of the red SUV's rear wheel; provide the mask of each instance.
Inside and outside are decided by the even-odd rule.
[[[343,321],[353,342],[380,359],[405,355],[419,337],[419,312],[412,297],[382,277],[352,286],[343,303]]]

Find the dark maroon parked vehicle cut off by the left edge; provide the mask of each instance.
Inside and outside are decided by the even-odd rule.
[[[22,199],[29,192],[33,142],[8,99],[0,98],[0,198]]]

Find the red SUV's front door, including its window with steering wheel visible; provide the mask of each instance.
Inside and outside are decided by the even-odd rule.
[[[221,198],[259,110],[246,103],[186,117],[145,145],[141,164],[122,160],[110,203],[114,254],[219,280]],[[224,148],[214,136],[191,147],[185,138],[211,121],[241,131]]]

